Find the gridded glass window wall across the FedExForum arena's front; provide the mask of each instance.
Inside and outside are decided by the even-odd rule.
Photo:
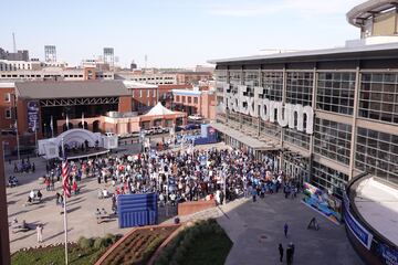
[[[260,71],[260,68],[259,66],[259,70],[243,72],[239,70],[217,71],[217,81],[229,81],[234,93],[238,92],[238,85],[244,84],[248,86],[249,96],[253,96],[254,86],[261,85],[264,98],[274,102],[283,102],[285,98],[285,103],[312,106],[315,80],[312,70],[283,72],[282,70]],[[264,121],[261,118],[229,110],[227,117],[221,113],[218,113],[217,117],[221,123],[228,118],[228,125],[231,128],[244,131],[248,137],[256,137],[260,130],[260,136],[270,137],[275,142],[280,142],[283,131],[284,147],[287,149],[290,146],[300,147],[306,150],[308,156],[313,150],[315,155],[338,162],[348,170],[353,126],[350,119],[347,120],[347,124],[333,120],[341,117],[334,116],[335,114],[352,116],[355,113],[356,76],[354,68],[352,72],[323,70],[316,73],[313,146],[311,146],[311,135],[289,127],[282,128],[277,123]],[[398,124],[398,73],[368,71],[360,72],[359,76],[357,86],[358,118],[391,125]],[[286,81],[285,92],[283,89],[284,78]],[[218,87],[218,92],[222,92],[222,86]],[[221,93],[218,93],[217,99],[222,102]],[[324,115],[332,115],[335,118],[331,117],[333,120],[320,118],[316,110],[327,112],[328,114]],[[398,183],[398,135],[386,130],[385,132],[374,130],[374,128],[383,130],[377,123],[368,123],[367,128],[357,128],[353,161],[355,169],[369,171],[378,178]],[[305,124],[306,120],[304,120],[304,127]],[[344,184],[348,181],[348,176],[333,169],[333,163],[329,163],[328,160],[322,160],[325,161],[322,163],[313,161],[312,181],[320,188],[341,194]]]

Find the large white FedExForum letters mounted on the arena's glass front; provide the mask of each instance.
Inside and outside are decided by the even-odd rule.
[[[222,110],[230,109],[252,117],[261,117],[264,121],[275,123],[275,113],[277,124],[282,127],[313,134],[314,109],[311,106],[302,106],[300,104],[283,104],[282,102],[262,98],[263,87],[254,87],[254,96],[244,96],[248,86],[238,85],[238,93],[231,92],[231,85],[223,84],[223,106]],[[296,115],[296,120],[295,120]],[[306,126],[304,128],[304,117]]]

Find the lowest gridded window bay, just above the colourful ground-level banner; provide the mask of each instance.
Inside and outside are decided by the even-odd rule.
[[[320,188],[332,191],[342,197],[344,187],[348,181],[348,176],[333,168],[313,161],[312,167],[313,183]]]

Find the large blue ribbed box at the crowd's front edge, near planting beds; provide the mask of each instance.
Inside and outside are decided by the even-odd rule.
[[[124,194],[117,198],[119,227],[157,224],[157,194]]]

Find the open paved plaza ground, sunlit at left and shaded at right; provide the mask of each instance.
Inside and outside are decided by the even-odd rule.
[[[7,189],[9,222],[17,218],[20,222],[25,220],[32,225],[42,223],[43,245],[62,243],[64,241],[63,215],[60,213],[62,208],[55,205],[55,192],[62,191],[61,182],[55,184],[56,191],[45,191],[44,184],[39,186],[38,182],[38,178],[45,172],[45,162],[41,158],[31,161],[35,163],[35,173],[15,174],[22,184]],[[12,174],[13,163],[7,162],[6,170]],[[109,182],[98,184],[96,179],[84,179],[80,187],[81,194],[73,195],[67,202],[69,241],[76,241],[82,235],[103,236],[106,233],[124,234],[129,231],[129,229],[118,229],[117,219],[96,223],[94,215],[96,208],[104,208],[111,212],[111,199],[97,198],[98,189],[113,190]],[[38,188],[43,192],[43,202],[25,205],[30,190]],[[175,210],[170,211],[170,214],[172,212]],[[306,229],[313,216],[317,218],[320,231]],[[259,199],[255,203],[250,199],[239,199],[221,208],[181,218],[181,221],[207,218],[217,218],[234,243],[227,264],[280,264],[277,245],[282,243],[286,250],[290,242],[295,244],[294,264],[363,264],[346,237],[344,225],[329,222],[301,203],[298,197],[286,200],[282,193],[268,194],[265,199]],[[171,220],[166,222],[172,222]],[[287,239],[283,235],[285,222],[290,226]],[[10,241],[11,252],[39,245],[34,230],[17,234],[10,231]]]

